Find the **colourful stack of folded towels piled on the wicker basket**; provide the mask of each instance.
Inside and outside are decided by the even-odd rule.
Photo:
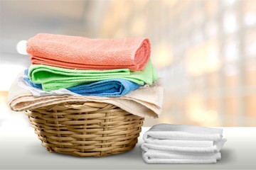
[[[14,111],[95,101],[140,116],[161,113],[163,87],[150,60],[147,38],[89,39],[41,33],[28,40],[27,52],[31,67],[16,79],[9,93]]]

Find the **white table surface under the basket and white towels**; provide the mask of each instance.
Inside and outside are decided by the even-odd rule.
[[[0,127],[0,169],[256,169],[256,128],[223,128],[228,139],[217,164],[146,164],[142,134],[130,152],[108,157],[73,157],[48,152],[31,127]]]

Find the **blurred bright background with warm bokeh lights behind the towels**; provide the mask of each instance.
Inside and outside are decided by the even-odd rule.
[[[6,96],[29,67],[26,42],[36,33],[87,38],[142,36],[164,79],[156,123],[256,125],[256,1],[0,1],[0,125],[21,123]],[[28,122],[28,120],[26,120]]]

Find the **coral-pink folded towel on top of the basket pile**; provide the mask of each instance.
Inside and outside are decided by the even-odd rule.
[[[32,64],[70,69],[143,70],[150,57],[148,38],[89,39],[40,33],[27,42]]]

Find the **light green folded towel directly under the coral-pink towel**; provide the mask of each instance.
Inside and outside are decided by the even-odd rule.
[[[146,64],[145,69],[138,72],[132,72],[129,69],[64,69],[36,64],[31,65],[28,75],[34,84],[42,84],[44,91],[68,88],[105,79],[127,79],[140,85],[151,85],[153,81],[158,79],[156,69],[150,60]]]

